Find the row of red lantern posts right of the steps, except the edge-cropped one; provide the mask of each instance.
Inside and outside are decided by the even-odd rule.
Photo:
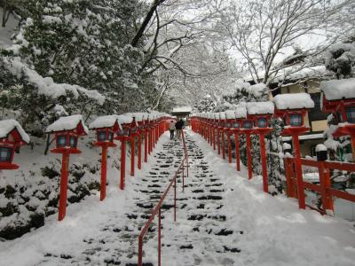
[[[285,95],[282,95],[282,97],[284,96]],[[303,95],[303,97],[307,98],[307,101],[312,101],[312,99],[309,98],[309,95]],[[300,181],[302,180],[302,168],[298,136],[309,130],[309,128],[304,125],[304,116],[308,113],[309,106],[312,106],[311,102],[308,104],[306,103],[304,106],[294,105],[283,107],[281,105],[279,108],[277,102],[275,102],[275,108],[272,102],[244,103],[237,106],[235,110],[228,110],[223,113],[197,113],[192,117],[192,129],[201,134],[201,136],[204,137],[209,142],[209,145],[213,146],[213,149],[215,150],[217,143],[218,154],[222,153],[224,159],[226,135],[230,163],[232,162],[231,136],[234,135],[236,168],[238,171],[241,170],[239,136],[245,135],[248,158],[248,179],[251,179],[253,176],[251,163],[251,135],[258,135],[260,139],[260,153],[263,170],[263,189],[264,192],[268,192],[264,137],[272,131],[272,127],[270,126],[271,118],[272,116],[280,117],[285,122],[285,127],[281,135],[292,136],[297,165],[296,175],[297,179]],[[298,196],[303,199],[300,202],[304,202],[304,195]],[[304,208],[305,202],[301,203],[300,207]]]

